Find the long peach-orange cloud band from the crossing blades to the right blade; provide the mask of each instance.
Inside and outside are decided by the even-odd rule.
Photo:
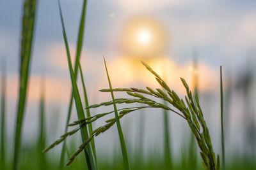
[[[55,43],[47,47],[47,56],[51,67],[58,67],[58,69],[67,71],[67,57],[65,48],[62,44]],[[75,53],[76,48],[71,45],[71,53]],[[85,54],[84,54],[85,53]],[[106,73],[103,65],[102,54],[93,52],[87,49],[81,56],[81,65],[84,76],[86,77],[86,85],[88,88],[97,86],[98,89],[106,88]],[[114,53],[113,55],[116,55]],[[64,57],[63,57],[64,56]],[[110,58],[109,58],[110,57]],[[158,87],[154,76],[150,74],[147,69],[140,63],[140,59],[134,57],[112,57],[107,56],[107,64],[111,81],[115,87],[127,87],[131,85],[143,85]],[[163,75],[163,66],[166,67],[166,80],[173,89],[183,92],[184,88],[180,81],[180,77],[186,78],[189,85],[191,85],[191,63],[177,64],[168,57],[159,57],[146,60],[152,68],[160,75]],[[211,66],[204,63],[198,65],[198,87],[201,91],[210,91],[218,87],[218,72]],[[68,79],[69,80],[69,79]],[[56,83],[58,84],[58,83]],[[192,87],[192,86],[191,86]],[[95,90],[95,89],[94,89]]]

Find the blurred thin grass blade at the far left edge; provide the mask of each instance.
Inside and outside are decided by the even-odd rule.
[[[1,167],[5,169],[5,143],[4,139],[6,139],[5,133],[5,104],[6,104],[6,64],[3,62],[3,70],[1,77],[1,153],[0,153],[0,163]]]

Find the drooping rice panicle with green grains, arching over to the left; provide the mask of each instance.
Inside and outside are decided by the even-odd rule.
[[[109,106],[114,103],[116,104],[141,103],[145,105],[145,106],[138,106],[138,107],[122,108],[119,110],[115,109],[116,111],[119,111],[119,115],[118,115],[119,119],[124,117],[128,113],[131,113],[132,111],[141,110],[143,108],[161,108],[163,110],[172,111],[177,115],[179,115],[180,117],[182,117],[184,120],[186,120],[191,131],[193,132],[196,138],[196,141],[198,143],[198,146],[200,148],[200,155],[202,157],[202,164],[204,166],[204,169],[211,169],[211,170],[220,169],[220,157],[219,155],[217,155],[216,157],[213,151],[211,137],[204,120],[204,114],[199,104],[198,95],[197,94],[195,95],[195,100],[194,100],[192,92],[188,87],[188,84],[183,78],[181,78],[181,81],[184,87],[186,88],[186,92],[187,92],[187,95],[185,96],[185,101],[184,101],[184,99],[181,99],[175,91],[171,90],[170,87],[168,87],[165,81],[163,81],[163,79],[150,66],[148,66],[145,62],[142,62],[142,64],[148,69],[148,71],[150,71],[152,74],[154,74],[154,76],[156,76],[156,80],[161,85],[161,87],[163,87],[163,89],[166,90],[166,92],[164,92],[161,89],[153,90],[150,87],[146,87],[147,90],[136,89],[136,88],[102,89],[100,90],[101,92],[126,92],[129,96],[132,96],[132,98],[117,98],[117,99],[113,99],[112,101],[108,101],[100,104],[93,104],[89,106],[89,108],[97,108],[99,106]],[[164,101],[167,101],[175,108],[175,110],[173,110],[172,108],[162,103],[157,103],[157,101],[150,99],[146,96],[156,97],[156,99],[162,99]],[[70,124],[70,126],[82,124],[81,127],[84,127],[84,125],[91,124],[98,118],[104,117],[105,115],[108,115],[113,112],[115,111],[110,111],[108,113],[100,113],[93,117],[84,118],[82,120],[80,119],[74,122],[73,124]],[[117,122],[116,118],[111,118],[109,120],[106,120],[106,124],[104,126],[98,127],[97,129],[95,129],[90,134],[90,137],[79,146],[79,150],[77,150],[77,152],[72,155],[70,160],[74,160],[76,155],[81,152],[81,149],[86,147],[90,143],[93,136],[98,136],[100,133],[107,131],[116,122]],[[73,131],[67,132],[67,134],[63,134],[63,136],[57,141],[61,141],[61,139],[67,138],[67,136],[74,134],[81,127],[77,127]],[[49,146],[49,149],[53,148],[55,145],[56,143],[53,143],[53,145]],[[70,161],[68,162],[68,164],[69,163]]]

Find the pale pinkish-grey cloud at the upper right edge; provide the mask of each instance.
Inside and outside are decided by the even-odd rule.
[[[236,18],[226,18],[216,22],[216,29],[212,41],[219,46],[219,50],[230,62],[237,60],[241,66],[246,51],[256,48],[256,13],[246,11]]]

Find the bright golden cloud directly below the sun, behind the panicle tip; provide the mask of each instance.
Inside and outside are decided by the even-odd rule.
[[[199,63],[198,71],[195,72],[191,63],[179,65],[168,57],[145,61],[168,82],[173,90],[184,92],[180,77],[185,78],[192,89],[193,73],[198,74],[198,88],[201,92],[210,92],[219,88],[218,71],[207,64]],[[115,87],[129,87],[138,83],[143,87],[159,87],[154,76],[147,71],[140,60],[128,57],[117,58],[109,64],[109,74]]]

